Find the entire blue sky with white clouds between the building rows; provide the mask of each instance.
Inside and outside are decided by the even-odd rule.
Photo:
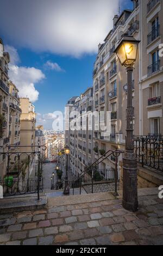
[[[92,86],[99,42],[112,28],[119,0],[0,0],[0,38],[9,77],[34,103],[37,124],[52,129],[54,111]],[[121,11],[132,9],[120,0]]]

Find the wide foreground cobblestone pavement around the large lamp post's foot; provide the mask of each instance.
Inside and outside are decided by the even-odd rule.
[[[163,245],[163,200],[140,196],[139,205],[133,213],[122,209],[121,199],[110,199],[0,215],[0,243]]]

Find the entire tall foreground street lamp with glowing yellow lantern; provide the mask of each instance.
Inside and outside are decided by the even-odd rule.
[[[127,136],[126,152],[123,156],[123,208],[129,211],[138,210],[137,200],[137,161],[134,155],[133,140],[133,95],[132,95],[132,74],[133,65],[136,61],[137,48],[140,41],[133,36],[123,35],[115,53],[122,66],[127,68]]]

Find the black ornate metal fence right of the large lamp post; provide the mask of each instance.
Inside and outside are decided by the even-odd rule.
[[[163,137],[161,135],[136,136],[135,156],[143,166],[163,172]]]

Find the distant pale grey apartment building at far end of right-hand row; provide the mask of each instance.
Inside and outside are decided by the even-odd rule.
[[[73,175],[83,172],[85,166],[92,162],[92,111],[93,88],[89,87],[80,97],[76,97],[70,109],[70,140],[67,138],[67,145],[70,147],[70,170]]]

